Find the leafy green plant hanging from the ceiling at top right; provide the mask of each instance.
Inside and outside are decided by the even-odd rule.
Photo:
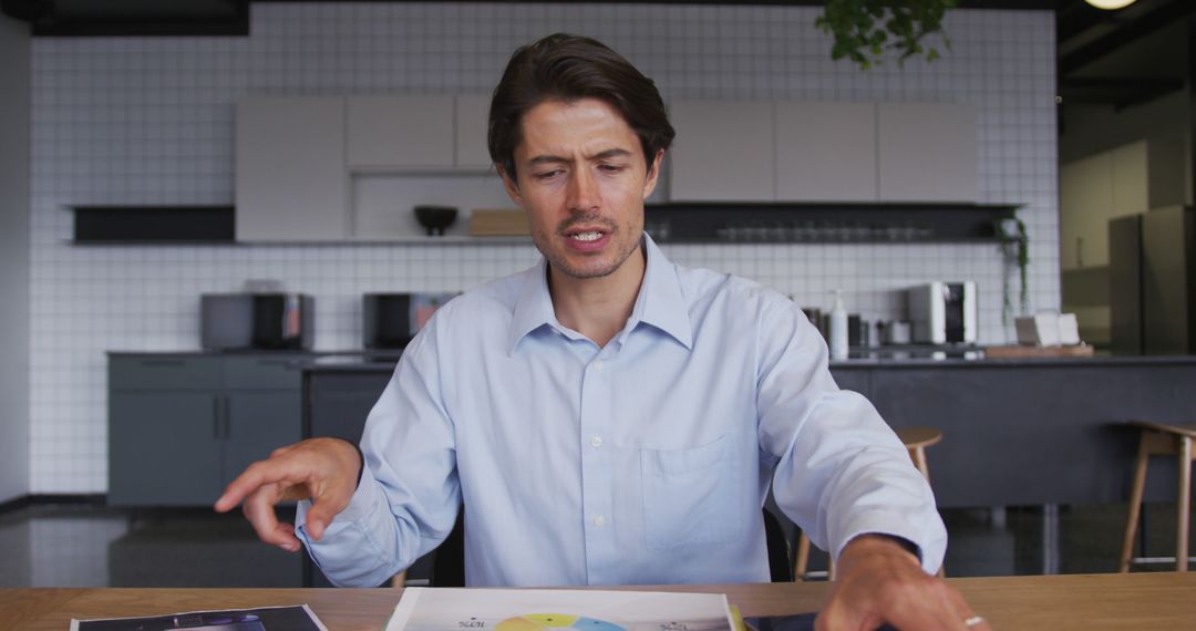
[[[867,71],[881,62],[885,49],[898,53],[898,66],[915,55],[939,59],[939,50],[925,43],[934,33],[951,50],[942,16],[954,6],[956,0],[826,0],[814,25],[835,37],[831,59],[848,57]]]

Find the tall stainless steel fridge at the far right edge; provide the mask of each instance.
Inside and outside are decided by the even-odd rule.
[[[1117,353],[1196,353],[1196,209],[1109,221],[1109,307]]]

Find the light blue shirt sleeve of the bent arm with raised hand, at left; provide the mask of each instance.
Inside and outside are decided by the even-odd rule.
[[[319,541],[305,527],[310,502],[299,502],[295,534],[334,584],[379,586],[439,546],[456,523],[460,486],[440,396],[437,319],[407,347],[370,411],[361,482]]]

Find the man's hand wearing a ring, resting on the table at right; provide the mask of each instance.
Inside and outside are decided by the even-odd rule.
[[[852,539],[838,557],[835,588],[818,614],[818,631],[873,631],[889,623],[916,631],[991,631],[945,581],[886,537]],[[974,619],[971,626],[965,620]]]

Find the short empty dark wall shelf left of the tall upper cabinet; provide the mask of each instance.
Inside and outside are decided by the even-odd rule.
[[[77,244],[231,244],[231,206],[75,206]]]

